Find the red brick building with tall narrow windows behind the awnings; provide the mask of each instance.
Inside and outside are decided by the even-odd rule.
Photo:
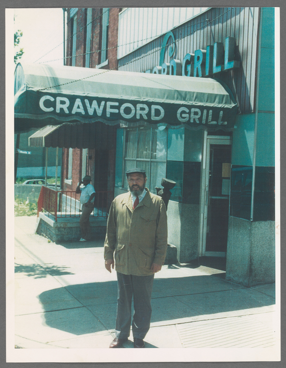
[[[65,64],[88,68],[116,69],[118,8],[67,9]],[[114,189],[116,128],[98,122],[79,144],[63,149],[62,188],[75,191],[85,176],[92,177],[97,191]],[[83,148],[85,147],[85,148]],[[87,148],[86,148],[87,147]]]

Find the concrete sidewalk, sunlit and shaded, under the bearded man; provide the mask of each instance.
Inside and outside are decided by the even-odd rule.
[[[35,223],[15,218],[16,347],[108,348],[117,281],[105,270],[103,239],[55,244],[34,234]],[[279,339],[274,293],[275,285],[227,282],[216,269],[165,265],[155,275],[146,348],[271,348]],[[124,346],[133,348],[132,333]]]

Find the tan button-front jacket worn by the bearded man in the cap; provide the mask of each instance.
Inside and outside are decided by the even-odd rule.
[[[104,243],[104,258],[113,259],[115,269],[136,276],[151,275],[151,264],[164,264],[167,253],[167,213],[161,197],[147,193],[133,209],[131,193],[112,202]]]

